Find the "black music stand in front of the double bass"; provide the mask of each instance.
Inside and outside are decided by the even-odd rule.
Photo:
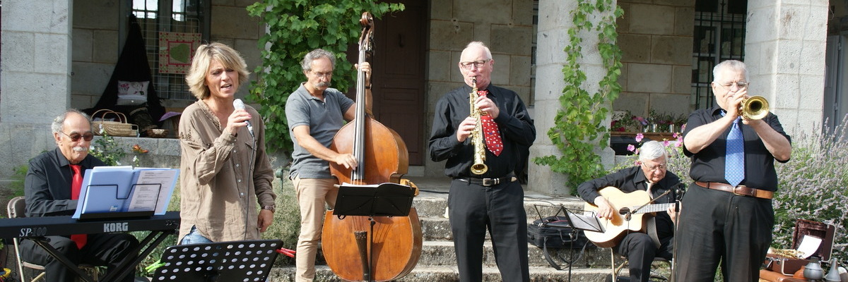
[[[343,184],[338,187],[338,196],[336,197],[336,207],[332,214],[338,218],[345,216],[367,216],[371,223],[371,234],[374,233],[374,217],[405,217],[410,215],[412,207],[412,197],[415,196],[415,189],[407,185],[399,185],[397,183],[383,183],[381,185],[349,185]],[[371,250],[373,240],[367,242],[365,248],[365,238],[367,234],[364,232],[354,232],[356,241],[360,247],[360,253],[367,253]],[[362,279],[364,281],[373,281],[371,269],[373,262],[371,253],[367,253],[365,257],[361,257],[362,262]],[[367,262],[367,263],[366,263]]]

